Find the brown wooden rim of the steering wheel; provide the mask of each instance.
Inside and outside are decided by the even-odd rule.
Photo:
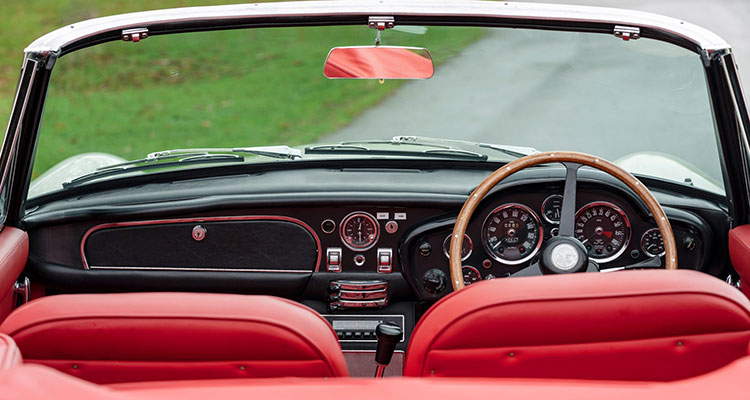
[[[669,220],[659,202],[656,201],[654,196],[641,183],[641,181],[617,165],[589,154],[572,151],[550,151],[531,154],[511,161],[490,174],[490,176],[482,181],[471,195],[469,195],[469,198],[461,208],[461,212],[458,213],[456,224],[453,226],[453,239],[451,240],[450,245],[450,270],[453,290],[461,290],[464,288],[461,247],[463,246],[464,233],[466,233],[466,227],[469,224],[469,220],[482,199],[484,199],[487,193],[489,193],[495,185],[508,176],[528,167],[553,162],[578,163],[596,168],[614,176],[629,188],[633,189],[651,211],[651,214],[656,220],[656,225],[659,227],[661,236],[664,239],[666,269],[677,269],[677,246],[675,245],[672,227],[669,225]]]

